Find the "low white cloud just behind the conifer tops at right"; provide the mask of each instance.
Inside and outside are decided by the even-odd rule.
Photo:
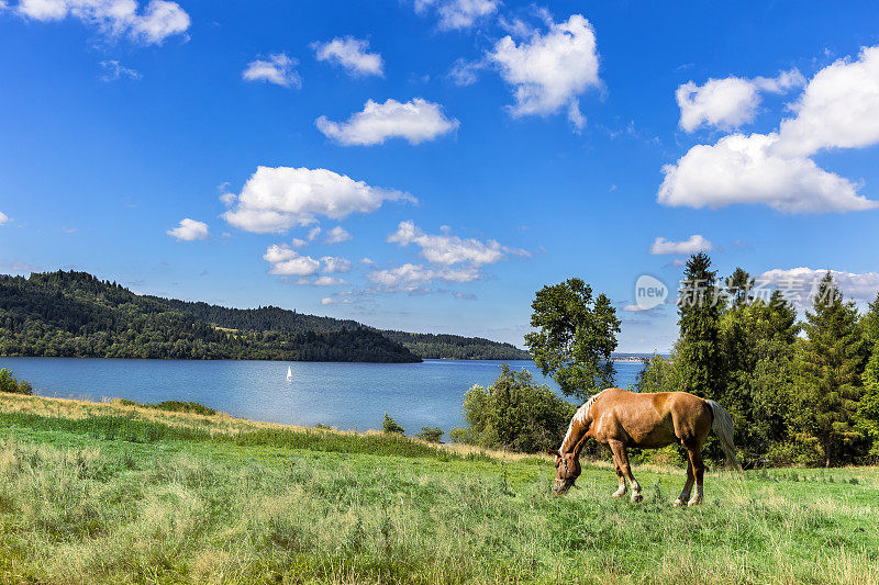
[[[756,282],[778,288],[788,301],[800,306],[809,306],[812,297],[817,293],[821,279],[826,273],[827,269],[800,267],[782,270],[776,268],[757,277]],[[870,302],[876,299],[876,293],[879,291],[879,272],[855,273],[830,270],[830,273],[844,296],[861,302]]]

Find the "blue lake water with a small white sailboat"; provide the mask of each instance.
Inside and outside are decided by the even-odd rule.
[[[33,384],[42,396],[142,403],[194,401],[233,416],[340,429],[381,428],[385,413],[408,432],[461,426],[464,394],[487,386],[500,361],[426,360],[423,363],[174,361],[0,358],[0,367]],[[531,361],[509,362],[546,382]],[[293,372],[286,380],[287,367]],[[616,385],[635,383],[641,363],[617,362]]]

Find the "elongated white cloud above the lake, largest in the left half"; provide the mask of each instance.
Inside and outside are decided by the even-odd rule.
[[[400,200],[414,198],[326,169],[258,167],[223,217],[247,232],[265,234],[309,225],[318,215],[338,221],[352,213],[371,213],[386,201]]]

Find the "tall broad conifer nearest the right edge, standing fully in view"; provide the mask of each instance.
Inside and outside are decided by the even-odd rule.
[[[837,463],[861,437],[856,426],[861,395],[863,338],[858,313],[827,272],[806,312],[799,404],[794,414],[803,436],[816,439],[824,464]]]

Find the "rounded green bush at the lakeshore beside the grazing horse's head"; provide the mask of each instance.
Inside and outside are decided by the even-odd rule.
[[[557,449],[577,406],[534,385],[527,371],[503,364],[488,389],[471,387],[464,397],[467,429],[455,429],[453,440],[525,453]]]

